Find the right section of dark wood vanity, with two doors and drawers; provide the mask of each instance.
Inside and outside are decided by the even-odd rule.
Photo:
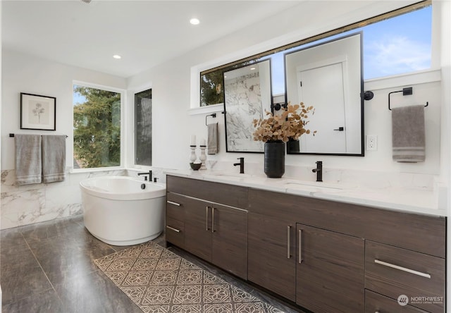
[[[444,312],[445,238],[439,216],[249,190],[249,281],[315,313]]]

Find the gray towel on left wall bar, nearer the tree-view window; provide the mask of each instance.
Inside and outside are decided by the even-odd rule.
[[[66,136],[42,136],[42,183],[63,181],[65,171]]]

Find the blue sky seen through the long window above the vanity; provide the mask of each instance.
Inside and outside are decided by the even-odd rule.
[[[364,80],[368,80],[430,68],[431,26],[432,7],[428,6],[334,37],[364,32]],[[283,52],[271,56],[271,70],[273,94],[284,93]]]

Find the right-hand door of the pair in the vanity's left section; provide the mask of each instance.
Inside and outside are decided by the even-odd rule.
[[[211,204],[211,262],[247,279],[247,211]]]

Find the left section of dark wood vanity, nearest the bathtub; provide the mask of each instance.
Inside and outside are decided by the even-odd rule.
[[[247,211],[226,205],[247,203],[247,189],[168,176],[167,190],[166,241],[247,279]],[[174,207],[183,214],[174,216]],[[175,232],[183,234],[183,243],[173,235],[173,221],[183,221],[183,232]]]

